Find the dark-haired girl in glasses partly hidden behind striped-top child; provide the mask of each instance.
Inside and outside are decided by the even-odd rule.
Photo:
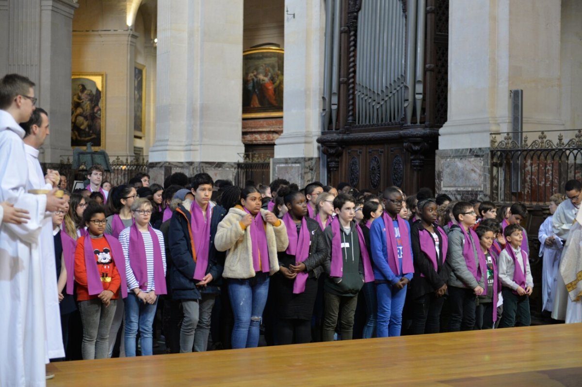
[[[107,217],[105,234],[119,238],[119,233],[133,224],[132,204],[138,197],[136,189],[130,185],[119,185],[113,188],[111,200],[108,201],[111,215]]]

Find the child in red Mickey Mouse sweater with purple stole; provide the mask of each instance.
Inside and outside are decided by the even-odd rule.
[[[83,359],[104,359],[109,353],[109,329],[120,296],[127,297],[125,256],[121,243],[104,234],[105,209],[91,204],[83,213],[87,235],[77,239],[74,279],[83,321]],[[121,270],[118,270],[118,267]]]

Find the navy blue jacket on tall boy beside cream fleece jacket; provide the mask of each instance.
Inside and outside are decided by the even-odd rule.
[[[190,212],[179,205],[173,212],[168,232],[169,249],[172,256],[170,267],[170,284],[172,286],[172,298],[175,300],[200,299],[202,293],[220,293],[222,284],[222,270],[226,253],[219,252],[214,247],[214,236],[217,233],[218,223],[225,216],[226,210],[221,206],[212,209],[210,220],[210,249],[208,249],[208,268],[206,274],[212,274],[212,282],[206,288],[196,286],[198,280],[194,279],[196,262],[192,257],[192,239],[190,228]]]

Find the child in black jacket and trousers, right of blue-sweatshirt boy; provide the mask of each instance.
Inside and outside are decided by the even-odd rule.
[[[414,277],[410,287],[413,299],[412,333],[432,334],[441,331],[441,310],[447,293],[450,264],[446,260],[448,238],[437,221],[435,199],[420,200],[420,221],[410,230],[414,254]]]

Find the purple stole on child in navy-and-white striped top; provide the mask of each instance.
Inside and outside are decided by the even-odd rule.
[[[159,245],[158,234],[154,229],[148,225],[150,231],[151,242],[154,248],[154,287],[157,295],[168,294],[166,289],[166,276],[164,274],[164,262],[162,261],[162,250]],[[136,276],[137,284],[140,289],[147,290],[147,259],[145,258],[144,238],[141,231],[137,230],[137,224],[133,224],[129,230],[129,255],[134,259],[130,259],[129,266],[132,268],[133,274]],[[122,283],[123,286],[123,283]],[[127,283],[125,284],[127,288]]]

